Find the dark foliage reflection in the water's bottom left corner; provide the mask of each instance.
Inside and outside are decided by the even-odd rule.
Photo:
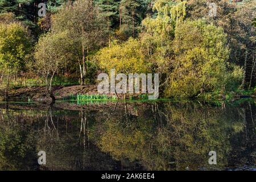
[[[9,118],[14,119],[15,118]],[[20,127],[14,123],[0,125],[0,170],[34,168],[35,135],[29,127]]]

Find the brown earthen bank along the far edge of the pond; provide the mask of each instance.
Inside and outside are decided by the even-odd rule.
[[[203,100],[239,100],[241,98],[256,98],[256,90],[251,92],[230,92],[223,94],[204,94],[200,96]],[[70,96],[80,95],[98,95],[97,85],[71,85],[71,86],[53,86],[53,93],[56,100],[67,100]],[[115,94],[105,94],[107,97],[115,97]],[[138,94],[127,94],[126,98],[137,98]],[[118,98],[123,98],[123,94],[118,94]],[[0,101],[5,100],[5,90],[0,90]],[[45,86],[23,87],[11,89],[9,92],[9,101],[14,102],[51,102],[48,97]]]

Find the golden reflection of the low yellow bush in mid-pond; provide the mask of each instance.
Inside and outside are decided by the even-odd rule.
[[[131,160],[141,158],[141,153],[151,137],[151,121],[139,121],[131,126],[123,126],[118,121],[109,121],[100,140],[103,151],[110,152],[115,159],[128,156]],[[150,126],[150,127],[148,127]],[[109,142],[111,141],[111,142]]]

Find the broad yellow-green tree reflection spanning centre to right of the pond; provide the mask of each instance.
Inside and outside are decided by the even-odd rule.
[[[152,104],[151,108],[151,114],[147,110],[129,125],[122,118],[108,119],[97,142],[101,150],[118,160],[138,160],[146,169],[211,168],[208,164],[211,150],[217,152],[217,168],[228,165],[232,151],[230,137],[244,127],[232,107],[189,103]],[[143,113],[146,108],[140,110]],[[148,119],[148,115],[155,116],[151,118],[157,122]]]

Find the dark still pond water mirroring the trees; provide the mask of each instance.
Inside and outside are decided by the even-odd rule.
[[[255,113],[254,101],[0,104],[0,170],[255,170]]]

